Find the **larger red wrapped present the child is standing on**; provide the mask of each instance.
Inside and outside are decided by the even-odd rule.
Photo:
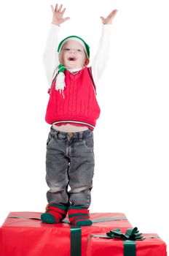
[[[125,214],[90,214],[92,226],[76,227],[64,219],[46,224],[41,213],[11,212],[0,230],[1,256],[85,256],[87,237],[120,227],[131,227]],[[103,255],[102,255],[103,256]]]

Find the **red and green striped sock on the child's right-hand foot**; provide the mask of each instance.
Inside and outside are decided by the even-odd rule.
[[[68,208],[68,219],[71,225],[78,226],[90,226],[92,221],[90,220],[89,210],[80,206],[70,206]]]

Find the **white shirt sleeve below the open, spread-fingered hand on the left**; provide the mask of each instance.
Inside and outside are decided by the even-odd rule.
[[[50,31],[47,34],[47,42],[43,53],[44,71],[47,76],[49,87],[51,86],[55,70],[58,67],[58,34],[60,26],[51,23]]]

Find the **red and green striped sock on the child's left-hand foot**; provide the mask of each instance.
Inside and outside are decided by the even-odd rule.
[[[46,207],[46,212],[41,215],[42,222],[45,223],[59,223],[66,217],[67,207],[55,204],[49,204]]]

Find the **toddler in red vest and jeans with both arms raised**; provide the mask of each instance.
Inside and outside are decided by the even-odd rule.
[[[65,10],[62,4],[52,7],[52,24],[44,50],[44,69],[50,86],[45,120],[52,126],[46,155],[50,190],[41,219],[58,223],[68,212],[71,225],[83,226],[92,225],[88,209],[95,165],[93,129],[100,115],[95,83],[109,57],[111,21],[117,10],[107,18],[101,17],[103,31],[91,67],[87,67],[90,46],[84,39],[72,35],[58,44],[60,24],[69,19],[63,18]]]

